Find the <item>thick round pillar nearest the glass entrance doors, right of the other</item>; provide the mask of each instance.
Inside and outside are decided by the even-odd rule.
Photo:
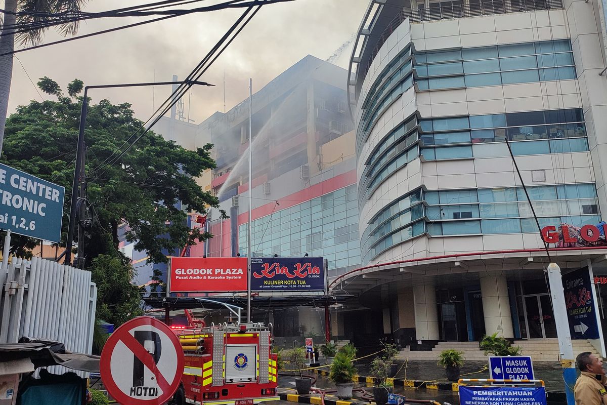
[[[495,274],[481,276],[481,294],[485,333],[491,335],[498,332],[504,338],[514,338],[506,277]]]

